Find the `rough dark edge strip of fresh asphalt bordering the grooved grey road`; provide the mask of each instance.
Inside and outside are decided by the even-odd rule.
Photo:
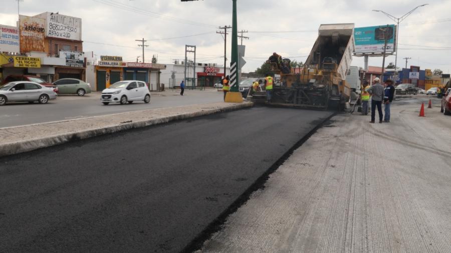
[[[245,204],[252,194],[264,189],[270,175],[276,171],[304,142],[306,142],[318,129],[324,127],[332,117],[338,113],[334,112],[330,116],[319,121],[304,137],[297,141],[290,149],[288,149],[277,161],[275,161],[260,177],[258,177],[229,207],[222,211],[213,221],[211,221],[190,243],[188,243],[180,252],[202,252],[202,246],[205,241],[221,229],[221,226],[227,221],[227,218],[236,212],[243,204]]]

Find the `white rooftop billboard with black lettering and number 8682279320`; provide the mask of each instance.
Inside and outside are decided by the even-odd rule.
[[[47,12],[46,35],[81,40],[81,18]]]

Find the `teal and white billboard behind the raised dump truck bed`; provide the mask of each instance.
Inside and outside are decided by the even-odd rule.
[[[395,25],[378,25],[354,28],[355,53],[384,52],[384,35],[387,36],[386,52],[395,51]]]

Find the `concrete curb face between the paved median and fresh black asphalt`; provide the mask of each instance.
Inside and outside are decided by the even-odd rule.
[[[110,125],[110,126],[99,127],[99,128],[94,128],[94,129],[85,130],[85,131],[64,133],[64,134],[48,136],[48,137],[39,138],[39,139],[31,139],[31,140],[26,140],[26,141],[0,144],[0,157],[6,156],[6,155],[22,153],[22,152],[28,152],[28,151],[32,151],[32,150],[35,150],[38,148],[58,145],[58,144],[66,143],[66,142],[73,141],[73,140],[95,137],[95,136],[99,136],[102,134],[113,133],[113,132],[133,129],[133,128],[141,128],[141,127],[150,126],[150,125],[157,125],[157,124],[167,123],[167,122],[171,122],[171,121],[175,121],[175,120],[183,120],[183,119],[192,118],[192,117],[205,116],[205,115],[210,115],[210,114],[219,113],[219,112],[233,111],[233,110],[248,108],[248,107],[252,107],[252,106],[254,106],[254,103],[252,103],[252,102],[243,102],[240,104],[223,107],[223,108],[202,109],[200,111],[183,113],[183,114],[178,114],[178,115],[174,115],[174,116],[160,117],[160,118],[141,120],[141,121],[136,121],[136,122],[127,122],[127,123],[123,123],[123,124],[121,123],[119,125],[113,125],[113,126]]]

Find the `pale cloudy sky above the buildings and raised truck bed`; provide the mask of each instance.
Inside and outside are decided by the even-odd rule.
[[[15,25],[17,1],[1,0],[0,24]],[[355,27],[394,23],[381,9],[396,17],[417,5],[399,29],[398,65],[451,70],[451,0],[238,0],[238,27],[248,30],[244,72],[254,71],[276,51],[284,57],[305,61],[321,23],[355,23]],[[82,18],[84,51],[118,55],[136,61],[142,54],[135,39],[147,39],[145,61],[152,54],[159,63],[184,58],[184,45],[197,46],[197,62],[223,64],[224,40],[218,26],[232,24],[232,0],[24,0],[20,13],[45,11]],[[227,37],[228,57],[231,40]],[[386,61],[394,61],[389,56]],[[381,57],[370,58],[380,66]],[[229,64],[229,63],[228,63]],[[353,57],[352,65],[363,66]]]

